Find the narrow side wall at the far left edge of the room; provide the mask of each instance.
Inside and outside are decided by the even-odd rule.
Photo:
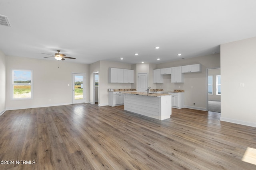
[[[6,57],[0,50],[0,115],[6,110]]]

